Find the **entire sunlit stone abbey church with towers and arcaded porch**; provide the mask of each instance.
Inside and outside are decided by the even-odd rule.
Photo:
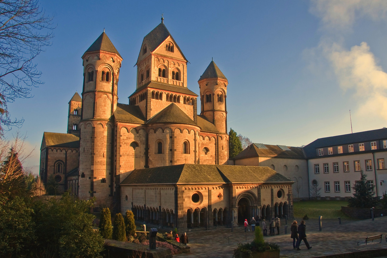
[[[119,76],[127,71],[106,33],[86,50],[82,94],[68,103],[67,133],[43,134],[43,182],[161,226],[293,217],[293,181],[269,167],[228,164],[229,86],[217,65],[211,61],[194,75],[197,96],[188,89],[188,61],[163,19],[138,47],[128,104],[117,102]]]

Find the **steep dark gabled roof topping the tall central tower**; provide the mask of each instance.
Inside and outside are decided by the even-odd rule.
[[[184,60],[187,61],[187,58],[185,58],[182,50],[180,50],[179,46],[177,45],[175,39],[173,39],[173,37],[171,36],[171,33],[168,31],[167,27],[165,27],[164,23],[161,22],[158,26],[156,26],[156,28],[152,29],[151,32],[149,32],[145,37],[144,39],[142,40],[142,44],[141,46],[144,46],[144,44],[147,45],[147,49],[151,52],[153,52],[154,50],[156,50],[156,48],[158,48],[161,43],[163,43],[168,37],[171,37],[172,40],[175,42],[175,46],[177,47],[177,49],[180,51],[180,53],[182,54]],[[140,59],[140,54],[141,54],[141,50],[140,50],[140,53],[139,53],[139,57],[137,58],[137,62],[136,64],[139,62],[139,59]]]

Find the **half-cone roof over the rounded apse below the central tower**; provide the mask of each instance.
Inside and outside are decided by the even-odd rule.
[[[194,121],[187,116],[182,109],[180,109],[175,103],[171,103],[169,106],[155,114],[148,124],[153,123],[174,123],[174,124],[188,124],[196,125]]]

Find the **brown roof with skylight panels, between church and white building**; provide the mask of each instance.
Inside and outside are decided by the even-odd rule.
[[[259,148],[259,145],[264,145],[267,149]],[[283,150],[278,145],[269,144],[251,144],[234,159],[246,159],[252,157],[276,157],[288,159],[305,159],[305,154],[301,147],[289,147],[290,150]]]

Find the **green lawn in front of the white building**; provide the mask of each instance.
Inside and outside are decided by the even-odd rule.
[[[305,214],[309,219],[351,219],[341,212],[341,206],[347,206],[346,201],[300,201],[293,203],[293,212],[296,218],[303,218]]]

